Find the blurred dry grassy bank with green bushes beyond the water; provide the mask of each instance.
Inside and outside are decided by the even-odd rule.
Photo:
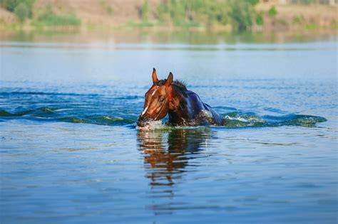
[[[1,30],[337,31],[337,6],[258,0],[0,0]]]

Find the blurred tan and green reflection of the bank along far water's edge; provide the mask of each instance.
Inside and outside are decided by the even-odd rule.
[[[304,41],[337,41],[332,31],[158,31],[147,29],[117,29],[91,31],[19,30],[1,32],[0,41],[60,42],[60,43],[291,43]]]

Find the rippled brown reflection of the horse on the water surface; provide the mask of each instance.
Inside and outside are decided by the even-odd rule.
[[[208,144],[210,129],[170,129],[138,131],[150,186],[172,186],[187,171],[188,160],[197,158]]]

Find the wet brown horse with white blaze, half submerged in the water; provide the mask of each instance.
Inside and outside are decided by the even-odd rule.
[[[144,127],[152,120],[159,120],[169,114],[171,125],[225,125],[225,119],[182,82],[173,81],[169,73],[166,80],[158,80],[153,69],[153,85],[145,93],[143,112],[138,117],[138,126]]]

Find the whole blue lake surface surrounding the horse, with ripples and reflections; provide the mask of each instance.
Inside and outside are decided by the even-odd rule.
[[[337,223],[336,38],[210,38],[1,41],[1,223]],[[227,127],[135,129],[153,67]]]

